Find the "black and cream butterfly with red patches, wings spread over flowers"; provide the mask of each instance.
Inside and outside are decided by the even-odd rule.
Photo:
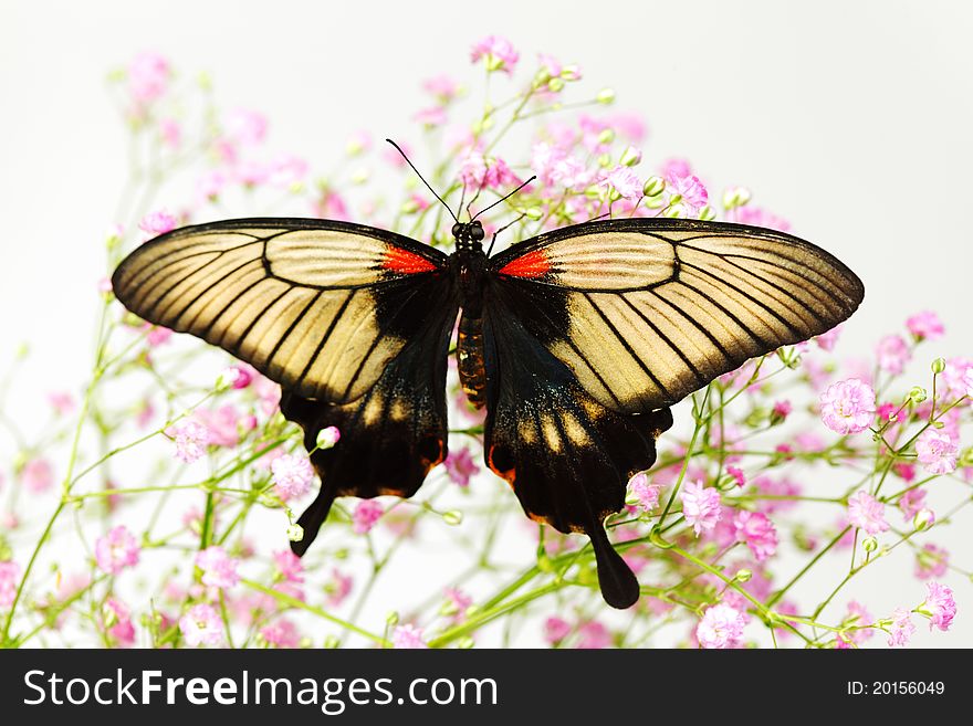
[[[480,221],[457,221],[452,236],[447,255],[351,222],[238,219],[163,234],[114,273],[129,311],[281,385],[322,482],[297,555],[335,497],[410,497],[446,459],[459,317],[459,376],[486,409],[488,466],[531,519],[590,538],[603,597],[628,608],[639,583],[605,519],[655,462],[670,407],[827,332],[865,294],[833,255],[757,227],[608,219],[492,256]],[[341,443],[317,449],[327,427]]]

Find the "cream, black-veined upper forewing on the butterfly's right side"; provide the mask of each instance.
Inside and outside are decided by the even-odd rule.
[[[825,333],[864,297],[819,248],[676,219],[578,224],[490,260],[524,327],[619,412],[670,406],[746,359]]]

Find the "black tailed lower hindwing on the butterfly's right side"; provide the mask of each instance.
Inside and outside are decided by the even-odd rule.
[[[628,478],[655,462],[669,410],[625,415],[600,404],[523,327],[502,290],[486,294],[486,463],[531,518],[590,537],[606,601],[627,608],[638,581],[609,545],[604,520],[622,507]]]

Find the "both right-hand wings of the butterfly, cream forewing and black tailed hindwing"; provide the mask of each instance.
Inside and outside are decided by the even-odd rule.
[[[483,312],[488,465],[525,512],[592,538],[606,601],[638,581],[604,519],[656,459],[668,407],[753,356],[826,332],[860,281],[818,248],[757,228],[610,220],[492,257]]]

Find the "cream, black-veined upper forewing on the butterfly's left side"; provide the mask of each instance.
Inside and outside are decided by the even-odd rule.
[[[139,317],[218,345],[299,396],[344,403],[417,335],[422,283],[446,260],[359,224],[229,220],[142,245],[112,284]]]

